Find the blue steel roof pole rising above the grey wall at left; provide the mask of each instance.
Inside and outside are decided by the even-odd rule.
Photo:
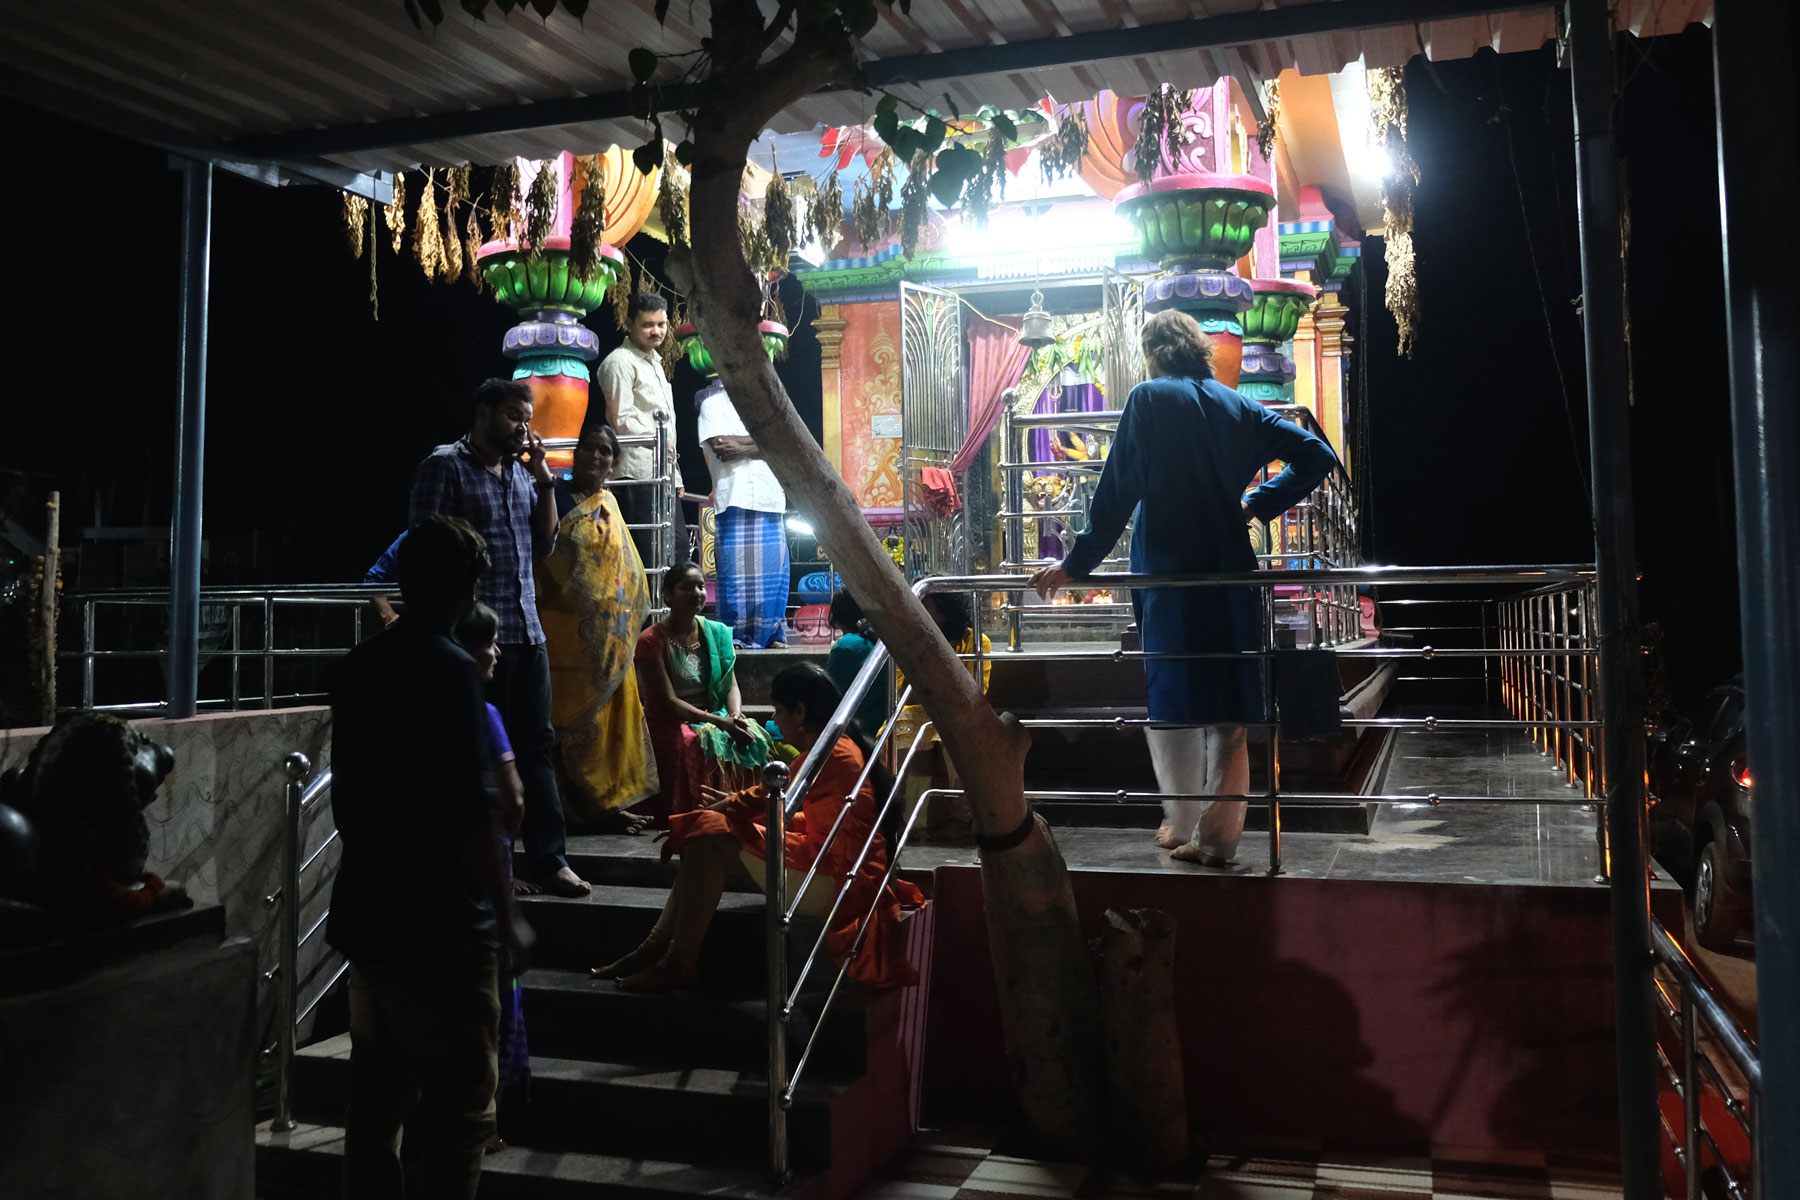
[[[175,504],[169,516],[167,711],[194,714],[200,698],[200,506],[207,452],[207,291],[212,164],[182,171],[182,378],[175,405]]]

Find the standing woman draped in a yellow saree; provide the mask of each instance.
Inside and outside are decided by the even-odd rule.
[[[607,477],[619,441],[607,425],[581,430],[571,507],[556,549],[538,561],[538,617],[551,658],[551,723],[569,822],[635,833],[625,813],[657,793],[644,707],[632,658],[650,610],[644,565]]]

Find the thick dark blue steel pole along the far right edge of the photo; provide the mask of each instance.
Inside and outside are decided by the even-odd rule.
[[[1757,1195],[1800,1196],[1800,20],[1793,0],[1717,0],[1712,79],[1732,356],[1737,604],[1757,831],[1762,1096]],[[1786,1133],[1782,1133],[1786,1130]]]

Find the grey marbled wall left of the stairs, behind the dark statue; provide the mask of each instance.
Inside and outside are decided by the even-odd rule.
[[[263,898],[279,889],[281,878],[283,761],[293,750],[306,754],[315,770],[331,761],[331,711],[218,712],[135,725],[175,750],[175,772],[146,810],[149,869],[184,883],[198,903],[225,905],[227,937],[248,937],[259,968],[274,966],[279,921]],[[43,732],[0,730],[0,770],[23,766]],[[331,829],[329,804],[317,806],[302,828],[302,862]],[[301,882],[302,934],[329,901],[337,855],[333,844]],[[337,955],[324,954],[324,936],[315,936],[301,955],[302,1004],[337,963]],[[259,986],[257,1029],[270,1027],[274,997],[270,984]]]

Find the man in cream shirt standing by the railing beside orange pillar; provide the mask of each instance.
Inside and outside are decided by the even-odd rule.
[[[664,554],[659,561],[655,554],[655,531],[634,529],[632,542],[637,543],[637,556],[646,569],[668,567],[686,554],[686,522],[680,515],[680,488],[675,457],[675,389],[662,371],[662,342],[670,335],[668,302],[653,291],[632,295],[625,327],[625,342],[607,354],[599,363],[594,381],[607,399],[607,425],[621,435],[650,435],[657,432],[657,414],[662,414],[662,439],[666,443],[666,470],[670,471],[668,520],[670,529],[662,542]],[[650,446],[632,446],[619,455],[617,477],[612,495],[619,502],[619,513],[630,525],[648,525],[655,520],[653,486],[630,484],[623,480],[650,479],[655,475],[655,452]],[[621,486],[623,482],[623,486]],[[655,590],[652,581],[652,590]]]

